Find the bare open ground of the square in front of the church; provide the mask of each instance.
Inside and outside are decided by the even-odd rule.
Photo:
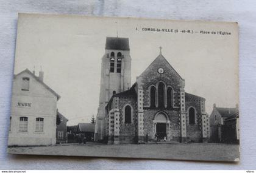
[[[238,144],[178,143],[60,144],[55,146],[9,147],[10,154],[73,155],[87,157],[160,158],[172,160],[239,161]]]

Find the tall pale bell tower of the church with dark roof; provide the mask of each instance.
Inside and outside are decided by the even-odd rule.
[[[101,61],[101,89],[95,126],[95,140],[105,136],[105,106],[113,93],[123,92],[131,85],[129,38],[107,37]]]

